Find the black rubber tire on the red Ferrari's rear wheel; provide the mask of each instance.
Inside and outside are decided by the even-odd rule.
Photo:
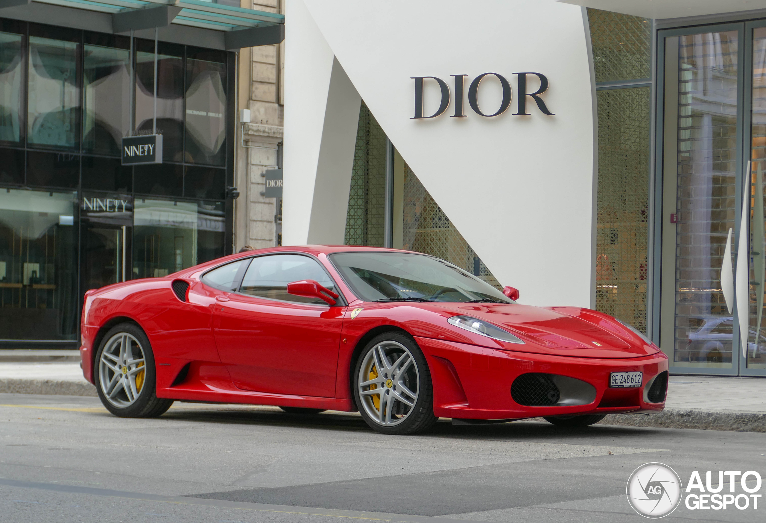
[[[133,371],[135,371],[137,368],[145,369],[141,378],[142,383],[140,391],[138,391],[137,396],[135,396],[133,400],[131,400],[131,398],[127,395],[127,391],[124,389],[122,391],[118,390],[117,395],[113,399],[107,398],[103,389],[108,387],[109,384],[107,383],[105,387],[102,387],[101,359],[103,356],[103,351],[107,345],[109,345],[110,354],[112,354],[111,350],[113,343],[116,343],[116,336],[121,336],[123,340],[129,340],[127,336],[123,335],[132,337],[134,342],[128,341],[128,344],[131,345],[132,343],[137,342],[139,344],[138,348],[143,352],[143,365],[123,364],[124,369],[133,368]],[[132,350],[135,349],[136,347],[133,346]],[[106,378],[110,378],[110,371],[112,372],[111,378],[114,378],[115,374],[119,376],[119,373],[112,371],[108,367],[103,368],[103,371]],[[125,371],[123,371],[123,374],[124,373]],[[109,410],[110,413],[113,413],[118,417],[157,417],[162,415],[162,413],[165,413],[165,411],[168,410],[173,404],[173,400],[160,398],[156,395],[157,374],[155,371],[152,345],[149,344],[149,338],[146,337],[146,334],[143,332],[143,330],[135,323],[120,323],[119,325],[112,327],[112,329],[109,329],[109,332],[106,332],[106,335],[103,337],[103,340],[101,340],[98,351],[96,352],[96,361],[94,361],[93,364],[93,378],[96,382],[96,391],[98,392],[101,403],[104,407],[106,407],[106,410]],[[138,381],[137,378],[136,381]],[[118,387],[113,388],[117,389]],[[127,399],[119,400],[119,394],[123,394]]]

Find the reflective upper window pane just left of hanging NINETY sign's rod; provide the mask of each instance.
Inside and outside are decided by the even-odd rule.
[[[83,66],[83,149],[119,155],[130,129],[130,51],[86,44]]]

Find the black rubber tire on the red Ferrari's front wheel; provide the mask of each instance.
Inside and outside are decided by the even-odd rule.
[[[404,356],[405,351],[403,349],[406,349],[411,355],[411,361],[404,356],[405,359],[400,365],[400,371],[397,368],[390,368],[390,376],[380,376],[377,372],[377,365],[373,362],[371,366],[369,360],[369,358],[375,358],[375,353],[372,351],[378,347],[382,347],[386,354],[388,363],[382,363],[384,366],[396,364],[398,359]],[[364,370],[363,366],[365,366]],[[377,374],[375,378],[371,378],[373,372]],[[361,374],[365,375],[362,376]],[[384,372],[383,374],[386,373]],[[365,394],[362,397],[360,383],[368,381],[367,378],[379,380],[380,384],[379,386],[365,386],[369,387],[365,392],[378,390],[379,388],[382,394],[385,394],[386,405],[391,405],[390,409],[388,407],[381,408],[381,398],[383,397],[381,394]],[[397,381],[394,381],[394,379]],[[411,391],[411,388],[408,387],[413,387],[416,380],[417,390]],[[404,332],[384,332],[372,338],[365,345],[356,361],[351,386],[354,392],[354,400],[359,413],[362,414],[362,419],[373,430],[381,434],[404,435],[420,433],[429,429],[437,422],[438,418],[434,416],[434,387],[431,384],[426,358],[414,339]],[[407,391],[407,393],[404,391]],[[411,406],[404,404],[402,400],[398,399],[399,397],[404,397],[404,399],[411,401],[411,393],[413,392],[416,397]],[[378,396],[378,407],[375,407],[374,396]],[[380,417],[384,417],[383,423],[381,423],[378,417],[381,410],[383,410],[383,413]],[[406,412],[398,412],[404,410]],[[386,416],[387,413],[390,413],[388,417]],[[373,414],[375,414],[375,417],[373,417]],[[394,416],[398,416],[398,418],[394,420]]]

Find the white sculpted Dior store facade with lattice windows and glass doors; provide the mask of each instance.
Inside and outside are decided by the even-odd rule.
[[[460,2],[290,2],[286,244],[430,253],[673,372],[766,375],[766,5],[645,4],[486,2],[456,34]]]

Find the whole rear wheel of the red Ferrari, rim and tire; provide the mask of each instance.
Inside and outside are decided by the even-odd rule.
[[[101,403],[115,416],[156,417],[173,404],[156,395],[152,346],[135,323],[120,323],[106,332],[96,353],[96,367]]]

